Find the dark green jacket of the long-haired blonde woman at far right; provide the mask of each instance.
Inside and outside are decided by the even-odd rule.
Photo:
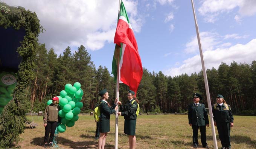
[[[217,104],[217,103],[216,103]],[[213,114],[213,121],[215,122],[234,122],[234,117],[232,115],[232,111],[230,106],[227,104],[229,107],[229,110],[223,110],[227,109],[225,104],[223,103],[221,106],[216,106],[214,109],[215,104],[212,106],[212,114]]]

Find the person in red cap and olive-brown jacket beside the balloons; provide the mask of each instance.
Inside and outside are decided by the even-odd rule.
[[[49,104],[44,110],[44,127],[45,127],[44,148],[48,147],[49,133],[50,133],[49,147],[52,147],[52,141],[53,141],[55,129],[59,121],[58,112],[59,112],[59,98],[53,97],[52,103]]]

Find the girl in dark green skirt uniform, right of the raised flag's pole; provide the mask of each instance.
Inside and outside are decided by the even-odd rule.
[[[121,111],[121,112],[118,112],[118,115],[122,115],[125,119],[124,133],[129,135],[130,149],[135,149],[135,146],[136,146],[136,136],[135,136],[136,119],[137,119],[136,110],[138,108],[137,103],[139,103],[139,100],[134,98],[134,94],[135,94],[134,91],[131,91],[131,90],[128,91],[127,97],[129,101],[125,104],[125,106],[123,106],[122,103],[118,101],[118,104],[120,105],[120,111]]]

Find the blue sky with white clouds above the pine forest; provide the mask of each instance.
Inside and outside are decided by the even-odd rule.
[[[60,55],[84,45],[111,72],[119,0],[0,0],[36,12],[38,37]],[[143,68],[166,76],[202,69],[191,0],[123,0]],[[206,69],[256,60],[256,0],[194,0]]]

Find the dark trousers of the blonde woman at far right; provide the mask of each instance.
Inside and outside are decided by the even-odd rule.
[[[230,145],[230,123],[226,122],[216,122],[219,140],[221,140],[221,145],[226,148],[231,148]]]

